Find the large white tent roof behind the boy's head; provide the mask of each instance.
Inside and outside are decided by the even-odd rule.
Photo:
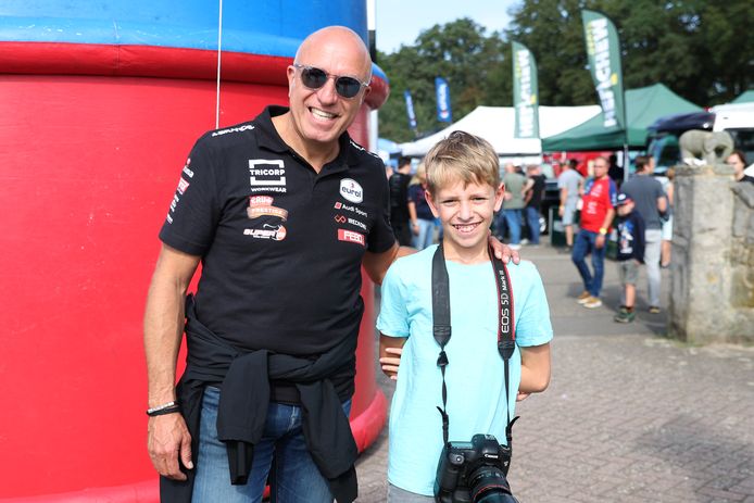
[[[599,105],[539,106],[539,134],[557,135],[592,118],[600,113]],[[503,161],[527,164],[541,162],[542,142],[539,138],[514,138],[515,110],[513,106],[477,106],[468,115],[420,140],[401,143],[403,155],[424,156],[438,141],[455,130],[464,130],[492,143]]]

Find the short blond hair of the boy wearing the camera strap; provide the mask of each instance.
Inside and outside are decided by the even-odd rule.
[[[489,141],[465,131],[453,131],[424,158],[427,188],[437,190],[463,181],[500,186],[500,161]]]

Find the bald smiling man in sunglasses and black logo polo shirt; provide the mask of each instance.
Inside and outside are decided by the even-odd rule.
[[[379,284],[410,251],[381,160],[345,131],[369,92],[362,39],[323,28],[287,74],[290,108],[197,141],[160,232],[144,349],[162,501],[259,502],[268,476],[280,503],[356,496],[361,267]]]

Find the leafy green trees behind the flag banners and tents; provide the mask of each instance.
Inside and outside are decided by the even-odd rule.
[[[436,120],[436,76],[450,84],[454,120],[478,105],[512,105],[511,40],[537,59],[540,103],[595,103],[581,9],[604,12],[618,28],[626,88],[662,81],[696,104],[713,105],[754,87],[750,0],[524,0],[502,34],[487,35],[474,21],[460,18],[423,32],[398,52],[379,53],[392,93],[380,110],[380,136],[414,138],[405,89],[412,91],[420,134],[444,127]]]

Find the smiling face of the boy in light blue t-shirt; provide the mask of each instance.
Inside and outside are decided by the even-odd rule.
[[[443,230],[443,246],[449,252],[463,254],[487,250],[487,236],[494,216],[503,203],[503,185],[497,189],[487,184],[458,180],[437,190],[427,191],[427,202]]]

